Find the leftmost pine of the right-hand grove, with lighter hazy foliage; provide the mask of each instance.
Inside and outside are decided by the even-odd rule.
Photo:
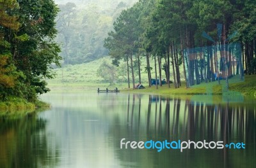
[[[114,31],[109,32],[108,38],[104,40],[104,46],[108,48],[115,66],[119,66],[120,60],[127,62],[130,60],[131,66],[129,66],[129,69],[131,68],[133,87],[136,74],[140,74],[141,71],[138,60],[132,60],[134,53],[139,51],[138,41],[142,29],[138,18],[140,17],[141,8],[142,4],[136,3],[132,8],[123,10],[113,24]]]

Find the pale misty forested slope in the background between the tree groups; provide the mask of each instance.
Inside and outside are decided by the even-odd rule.
[[[136,0],[56,0],[56,18],[63,64],[81,64],[108,55],[104,39],[122,10]]]

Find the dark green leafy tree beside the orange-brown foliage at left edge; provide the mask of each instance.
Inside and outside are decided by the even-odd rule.
[[[60,48],[53,41],[57,33],[54,19],[58,8],[52,0],[18,2],[21,27],[17,37],[20,40],[13,41],[13,48],[17,68],[26,78],[21,80],[17,88],[24,90],[23,93],[17,94],[29,101],[35,101],[36,94],[49,91],[45,79],[54,75],[50,70],[51,64],[60,66]]]

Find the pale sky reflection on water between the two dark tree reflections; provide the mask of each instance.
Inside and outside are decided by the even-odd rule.
[[[52,109],[40,116],[49,120],[49,139],[61,146],[58,167],[118,167],[113,146],[106,138],[109,121],[100,115],[97,95],[71,94],[62,99],[55,96]]]

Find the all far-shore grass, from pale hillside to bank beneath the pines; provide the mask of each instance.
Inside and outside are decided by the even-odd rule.
[[[99,60],[95,60],[92,62],[84,63],[84,64],[78,64],[78,65],[69,65],[66,67],[61,67],[58,69],[54,69],[56,73],[56,78],[53,80],[48,80],[49,87],[50,88],[63,88],[67,87],[68,89],[71,88],[88,88],[88,90],[97,89],[98,87],[104,88],[114,88],[118,87],[123,89],[124,91],[127,90],[129,92],[142,92],[142,93],[150,93],[150,94],[223,94],[227,93],[225,89],[225,80],[221,80],[221,85],[218,85],[218,81],[211,82],[211,83],[202,83],[201,85],[195,85],[191,88],[186,88],[185,83],[182,83],[182,87],[174,89],[173,84],[171,85],[171,88],[168,88],[167,85],[164,85],[163,87],[160,87],[159,90],[156,90],[155,87],[146,88],[145,90],[131,90],[131,89],[125,89],[127,88],[127,83],[124,82],[120,83],[120,81],[116,81],[116,84],[113,86],[109,86],[109,83],[106,83],[103,78],[97,76],[97,69],[99,69],[100,64],[102,62],[108,62],[111,64],[111,58],[110,57],[104,57]],[[125,62],[122,62],[121,64],[125,64]],[[147,81],[147,73],[145,73],[146,63],[145,58],[141,59],[141,81],[142,84],[147,87],[148,81]],[[153,65],[151,65],[153,66]],[[157,69],[158,70],[158,69]],[[180,68],[182,71],[182,68]],[[116,68],[116,71],[118,68]],[[171,72],[172,74],[172,72]],[[183,74],[183,72],[181,72]],[[164,71],[162,71],[163,78],[165,76]],[[152,70],[152,78],[154,78],[155,73],[154,69]],[[126,76],[125,76],[126,77]],[[181,76],[181,78],[183,75]],[[119,76],[119,79],[122,77]],[[184,78],[183,78],[184,79]],[[135,75],[136,83],[138,83],[138,74]],[[171,76],[172,80],[172,76]],[[256,75],[252,76],[246,76],[244,81],[239,80],[239,75],[235,76],[234,78],[229,80],[230,83],[230,90],[232,91],[232,94],[234,92],[239,92],[246,95],[254,95],[256,94]],[[231,92],[228,92],[229,94]]]

